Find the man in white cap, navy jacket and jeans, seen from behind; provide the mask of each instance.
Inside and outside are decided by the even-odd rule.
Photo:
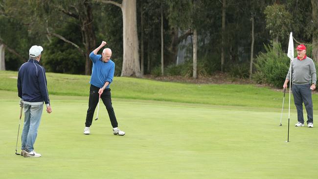
[[[18,73],[18,96],[24,108],[24,125],[22,132],[21,156],[41,157],[34,151],[34,142],[41,121],[43,102],[46,112],[52,109],[48,98],[45,69],[40,66],[42,46],[33,45],[29,50],[29,60],[24,63]]]

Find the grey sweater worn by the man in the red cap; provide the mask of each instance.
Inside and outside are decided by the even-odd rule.
[[[288,70],[286,80],[290,80],[290,69]],[[306,57],[304,60],[294,58],[292,62],[292,82],[295,85],[316,83],[316,67],[314,61]]]

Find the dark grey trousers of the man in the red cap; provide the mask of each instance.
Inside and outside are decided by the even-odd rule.
[[[297,109],[298,122],[304,124],[304,114],[302,112],[302,103],[304,103],[307,112],[307,124],[313,123],[313,100],[311,97],[310,84],[292,86],[294,102]]]

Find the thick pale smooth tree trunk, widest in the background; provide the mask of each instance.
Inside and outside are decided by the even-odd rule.
[[[123,13],[123,67],[121,76],[141,77],[138,54],[136,0],[122,0]]]

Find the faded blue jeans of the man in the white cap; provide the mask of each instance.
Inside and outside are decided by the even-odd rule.
[[[24,125],[22,132],[22,150],[31,152],[34,150],[33,145],[38,135],[38,128],[41,121],[43,104],[28,105],[24,104]]]

